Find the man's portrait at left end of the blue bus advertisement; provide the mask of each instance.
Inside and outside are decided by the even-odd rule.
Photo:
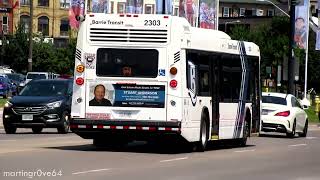
[[[93,89],[93,90],[92,90]],[[98,84],[90,88],[93,98],[89,101],[89,106],[112,106],[111,99],[113,91],[109,91],[103,84]]]

